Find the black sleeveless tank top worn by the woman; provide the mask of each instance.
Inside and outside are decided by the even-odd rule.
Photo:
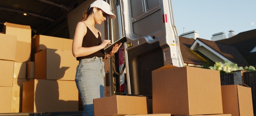
[[[96,38],[96,36],[93,34],[93,32],[87,26],[86,26],[86,28],[87,28],[87,32],[83,37],[82,47],[93,47],[93,46],[100,45],[102,43],[102,40],[101,40],[99,32],[98,32],[98,38]],[[87,55],[87,56],[77,57],[76,60],[81,60],[84,58],[92,58],[94,56],[105,58],[104,49],[101,49],[101,50],[99,50],[95,53],[92,53],[90,55]]]

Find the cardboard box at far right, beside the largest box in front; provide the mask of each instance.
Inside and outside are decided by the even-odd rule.
[[[221,86],[223,113],[253,116],[251,88],[245,84]]]

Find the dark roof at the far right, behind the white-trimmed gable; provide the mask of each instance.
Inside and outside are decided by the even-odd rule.
[[[256,46],[256,29],[241,32],[233,37],[215,42],[236,47],[244,56],[249,65],[256,66],[256,52],[250,53]]]

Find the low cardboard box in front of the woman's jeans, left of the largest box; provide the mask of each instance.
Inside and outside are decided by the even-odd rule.
[[[148,114],[147,98],[143,96],[112,95],[93,99],[94,116],[112,114]]]

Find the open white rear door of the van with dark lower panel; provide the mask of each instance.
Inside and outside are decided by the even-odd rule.
[[[184,66],[171,0],[120,0],[129,94],[152,95],[151,72]]]

